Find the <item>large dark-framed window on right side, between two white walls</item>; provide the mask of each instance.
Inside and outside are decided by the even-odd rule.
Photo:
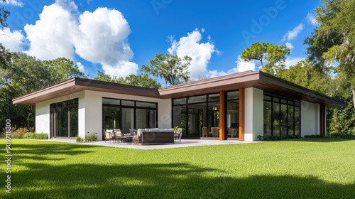
[[[264,95],[264,136],[300,135],[300,102]]]

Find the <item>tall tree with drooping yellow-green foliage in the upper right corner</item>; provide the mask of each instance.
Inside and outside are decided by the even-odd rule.
[[[322,0],[315,10],[318,26],[305,39],[307,53],[320,70],[337,67],[339,83],[350,87],[355,107],[355,1]]]

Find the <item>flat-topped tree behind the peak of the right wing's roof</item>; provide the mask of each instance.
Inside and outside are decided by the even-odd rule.
[[[257,60],[261,64],[261,70],[271,75],[277,75],[285,69],[286,55],[290,55],[290,49],[285,45],[273,45],[272,43],[253,43],[241,53],[244,61]]]

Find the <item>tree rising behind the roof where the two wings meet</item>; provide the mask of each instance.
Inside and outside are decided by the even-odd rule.
[[[178,85],[182,82],[188,82],[190,79],[188,66],[192,58],[185,56],[183,59],[178,55],[157,54],[151,60],[150,65],[142,65],[141,71],[145,75],[152,75],[156,78],[163,78],[166,85]]]

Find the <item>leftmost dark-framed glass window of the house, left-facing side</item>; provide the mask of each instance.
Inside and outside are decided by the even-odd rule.
[[[52,137],[75,137],[78,134],[79,99],[50,104],[50,134]]]

